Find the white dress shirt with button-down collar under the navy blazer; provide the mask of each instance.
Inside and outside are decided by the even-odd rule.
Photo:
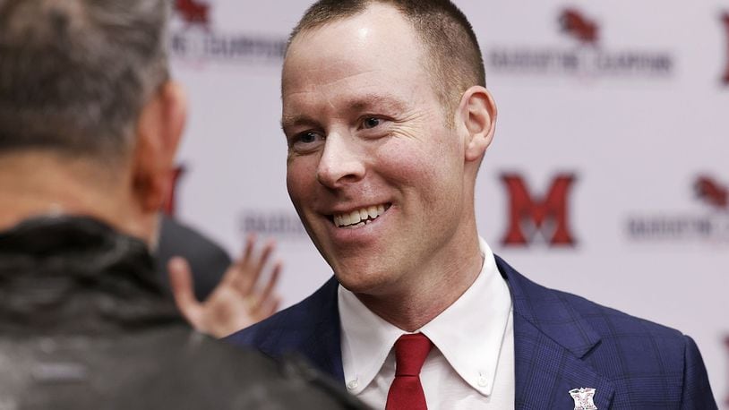
[[[514,329],[511,296],[493,252],[479,238],[484,266],[476,281],[416,332],[433,342],[420,372],[425,401],[435,409],[514,408]],[[339,286],[342,364],[347,389],[385,408],[395,378],[392,346],[406,331],[383,320]]]

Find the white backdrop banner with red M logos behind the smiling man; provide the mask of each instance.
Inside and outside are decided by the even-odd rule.
[[[279,128],[282,54],[310,2],[173,3],[191,100],[177,216],[232,254],[275,238],[296,303],[331,275],[288,200]],[[499,107],[481,235],[545,286],[694,337],[729,408],[729,1],[457,3]]]

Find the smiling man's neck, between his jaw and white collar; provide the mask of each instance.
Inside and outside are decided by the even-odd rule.
[[[422,328],[473,285],[484,265],[475,228],[471,240],[452,248],[454,253],[448,258],[434,255],[433,261],[425,263],[427,268],[407,277],[414,278],[413,283],[393,286],[398,291],[386,295],[357,294],[357,298],[399,329]]]

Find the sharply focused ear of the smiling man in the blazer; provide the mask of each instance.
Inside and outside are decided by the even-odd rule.
[[[491,93],[481,86],[466,90],[460,100],[456,119],[465,125],[467,131],[466,160],[480,160],[491,144],[496,129],[496,104]]]

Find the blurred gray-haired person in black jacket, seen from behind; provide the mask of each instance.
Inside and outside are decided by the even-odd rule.
[[[150,243],[183,131],[165,0],[0,0],[0,408],[359,408],[194,331]]]

